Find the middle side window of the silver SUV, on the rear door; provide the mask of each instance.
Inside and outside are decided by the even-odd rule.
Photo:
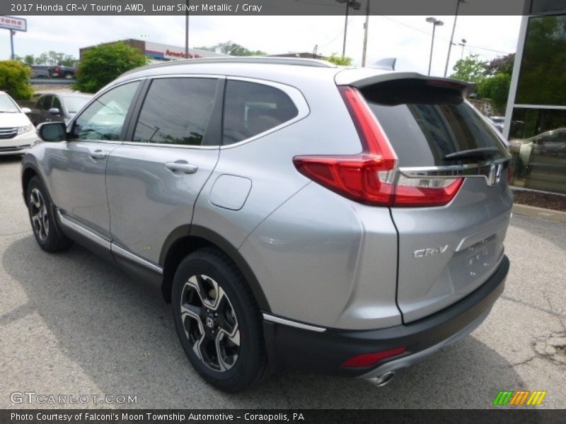
[[[155,79],[141,107],[134,141],[202,145],[217,85],[215,78]]]

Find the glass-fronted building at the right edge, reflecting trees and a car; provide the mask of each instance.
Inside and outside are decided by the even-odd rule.
[[[504,134],[514,185],[566,194],[566,2],[526,0]]]

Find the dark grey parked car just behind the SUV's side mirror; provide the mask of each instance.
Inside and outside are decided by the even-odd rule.
[[[57,121],[67,124],[91,97],[83,93],[46,93],[37,99],[28,117],[34,125]]]

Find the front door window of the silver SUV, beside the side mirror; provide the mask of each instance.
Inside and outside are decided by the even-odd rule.
[[[79,140],[118,140],[139,81],[123,84],[96,98],[73,126]]]

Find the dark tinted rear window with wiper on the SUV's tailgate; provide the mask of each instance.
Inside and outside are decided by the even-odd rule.
[[[476,163],[478,157],[446,158],[462,151],[487,148],[490,159],[507,157],[491,126],[457,90],[418,83],[376,84],[364,89],[366,101],[386,132],[403,167]],[[380,86],[383,90],[380,90]],[[394,93],[394,94],[393,94]]]

